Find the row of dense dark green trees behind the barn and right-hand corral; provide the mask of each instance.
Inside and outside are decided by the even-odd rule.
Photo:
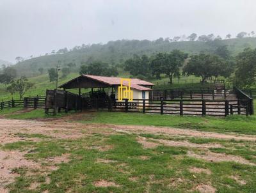
[[[187,53],[180,50],[172,50],[172,52],[159,52],[150,57],[147,55],[134,55],[127,59],[124,63],[124,70],[133,76],[142,79],[150,79],[155,77],[161,78],[161,74],[165,74],[170,84],[173,77],[180,75],[195,75],[202,78],[202,82],[209,77],[229,77],[234,69],[234,62],[230,58],[230,54],[226,46],[216,49],[215,54],[195,54],[188,56]]]

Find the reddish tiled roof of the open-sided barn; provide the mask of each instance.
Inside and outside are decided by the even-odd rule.
[[[79,77],[86,77],[86,78],[92,79],[92,80],[97,81],[97,82],[102,82],[104,84],[108,84],[109,86],[120,85],[120,81],[122,79],[121,77],[105,77],[105,76],[99,76],[99,75],[86,75],[86,74],[83,74]],[[62,84],[60,86],[60,88],[64,88],[65,85],[67,85],[68,83],[70,83],[72,81],[76,81],[77,78],[72,79],[71,81],[68,81],[65,84]],[[125,86],[128,86],[126,81],[124,81],[123,84]],[[147,88],[145,86],[154,86],[154,84],[151,83],[151,82],[143,81],[141,79],[131,79],[131,88],[138,89],[140,91],[149,91],[149,90],[151,90],[150,88]]]

